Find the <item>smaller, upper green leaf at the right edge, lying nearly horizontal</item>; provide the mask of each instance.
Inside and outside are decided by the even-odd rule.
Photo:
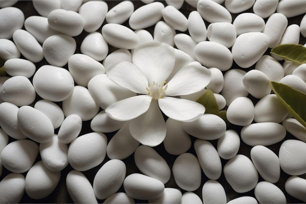
[[[271,49],[271,54],[275,54],[284,60],[302,65],[306,63],[306,47],[299,44],[277,45]]]

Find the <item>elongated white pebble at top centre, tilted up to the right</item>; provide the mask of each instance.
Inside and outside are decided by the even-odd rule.
[[[165,8],[161,2],[152,2],[136,9],[129,19],[132,29],[143,29],[154,25],[162,18],[162,11]]]

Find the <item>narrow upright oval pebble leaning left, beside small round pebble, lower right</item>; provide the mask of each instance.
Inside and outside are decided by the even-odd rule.
[[[194,148],[205,176],[211,180],[218,180],[221,176],[222,165],[216,148],[203,139],[197,139],[194,143]]]

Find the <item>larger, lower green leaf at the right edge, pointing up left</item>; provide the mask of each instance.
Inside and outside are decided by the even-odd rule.
[[[306,94],[278,82],[270,82],[270,86],[287,111],[306,127]]]

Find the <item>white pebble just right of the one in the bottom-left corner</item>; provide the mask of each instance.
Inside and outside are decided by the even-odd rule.
[[[54,191],[60,178],[61,172],[50,171],[38,161],[25,176],[25,192],[32,199],[43,199]]]

